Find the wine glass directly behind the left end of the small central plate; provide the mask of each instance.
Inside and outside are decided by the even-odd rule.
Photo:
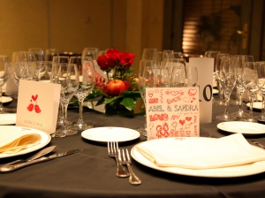
[[[70,57],[70,63],[78,65],[79,70],[79,88],[74,94],[79,100],[79,119],[73,128],[76,130],[86,130],[92,128],[93,125],[87,125],[83,120],[83,102],[95,87],[95,69],[94,59],[90,56]]]

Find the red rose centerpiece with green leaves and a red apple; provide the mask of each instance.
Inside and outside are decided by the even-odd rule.
[[[107,50],[105,55],[97,57],[97,65],[107,78],[95,77],[95,88],[87,100],[102,96],[95,105],[105,104],[107,114],[133,114],[136,100],[141,98],[139,80],[131,68],[134,57],[118,50]]]

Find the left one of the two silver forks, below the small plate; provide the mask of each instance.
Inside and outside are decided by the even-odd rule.
[[[117,177],[124,178],[124,177],[129,177],[130,174],[128,171],[125,170],[123,165],[119,162],[118,160],[118,145],[117,141],[108,141],[108,154],[110,157],[115,157],[116,159],[116,164],[117,164],[117,171],[116,175]]]

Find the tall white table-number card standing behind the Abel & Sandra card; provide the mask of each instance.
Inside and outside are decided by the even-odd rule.
[[[196,66],[200,86],[200,123],[212,122],[212,96],[215,59],[212,57],[190,57],[189,65]]]

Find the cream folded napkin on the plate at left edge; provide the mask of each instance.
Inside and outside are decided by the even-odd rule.
[[[42,136],[38,133],[2,133],[0,141],[0,153],[16,153],[19,152],[19,150],[30,148],[39,144],[41,140]]]

